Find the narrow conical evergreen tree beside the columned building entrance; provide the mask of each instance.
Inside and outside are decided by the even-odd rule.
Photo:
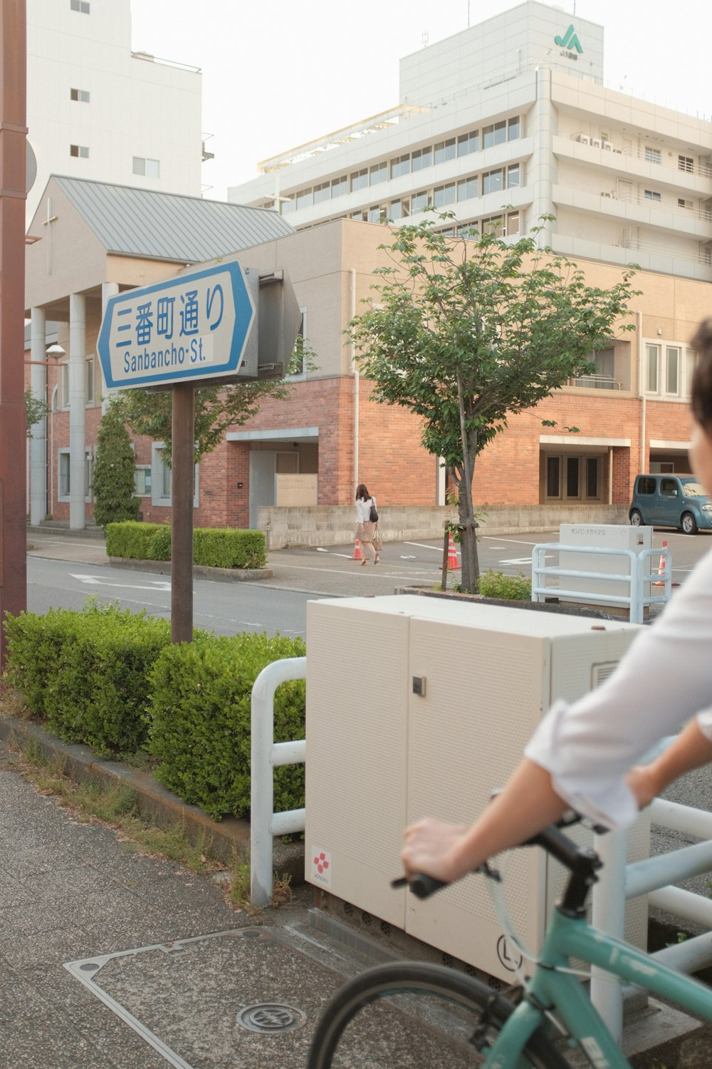
[[[136,461],[122,407],[115,401],[101,417],[96,436],[96,461],[92,477],[94,518],[101,527],[139,518],[135,495]]]

